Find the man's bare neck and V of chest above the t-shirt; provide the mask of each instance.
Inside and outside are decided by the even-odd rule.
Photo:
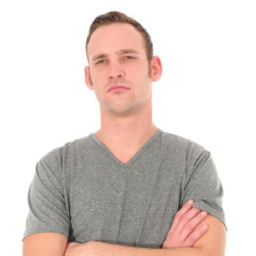
[[[113,116],[101,110],[101,128],[96,135],[117,158],[126,162],[155,132],[151,110],[129,116]]]

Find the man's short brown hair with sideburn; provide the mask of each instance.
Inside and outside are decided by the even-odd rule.
[[[88,47],[89,41],[91,39],[91,35],[100,26],[108,25],[108,24],[112,24],[112,23],[128,23],[128,24],[131,24],[135,29],[140,31],[140,34],[142,34],[143,39],[145,41],[145,45],[146,45],[147,59],[148,59],[148,61],[151,61],[151,59],[153,57],[153,43],[151,41],[150,35],[148,34],[148,31],[146,31],[146,29],[144,29],[143,26],[141,26],[140,23],[138,23],[138,21],[134,20],[133,18],[128,17],[127,15],[125,15],[122,12],[107,12],[103,15],[99,15],[98,17],[96,17],[94,19],[93,23],[91,23],[91,26],[89,29],[89,34],[86,39],[87,59],[88,59],[87,47]]]

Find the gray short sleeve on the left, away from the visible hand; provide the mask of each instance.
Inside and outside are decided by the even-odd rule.
[[[29,214],[23,238],[53,232],[69,236],[69,216],[64,200],[59,159],[50,152],[40,159],[29,187]]]

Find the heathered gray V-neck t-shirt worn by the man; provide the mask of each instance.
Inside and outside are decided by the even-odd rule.
[[[189,199],[225,222],[222,184],[202,146],[159,129],[122,163],[91,134],[37,163],[23,238],[53,232],[69,242],[160,248]]]

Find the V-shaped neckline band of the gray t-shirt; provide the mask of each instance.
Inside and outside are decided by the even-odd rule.
[[[146,148],[148,148],[148,146],[151,145],[151,143],[153,143],[154,140],[157,139],[157,137],[162,134],[162,130],[161,129],[157,129],[157,132],[154,133],[154,135],[151,136],[151,138],[149,138],[146,143],[143,144],[143,146],[135,153],[135,155],[133,155],[132,158],[129,159],[128,162],[121,162],[113,153],[112,151],[110,151],[110,149],[104,144],[102,143],[101,140],[99,140],[99,138],[97,138],[97,135],[95,133],[91,133],[89,135],[89,137],[94,140],[95,143],[97,143],[98,146],[100,146],[100,148],[102,148],[105,153],[108,154],[108,156],[113,159],[114,162],[116,162],[117,165],[125,168],[128,167],[129,165],[132,164],[132,162],[134,162],[136,159],[138,159],[138,157],[140,157],[140,154],[143,153],[143,151],[146,150]]]

